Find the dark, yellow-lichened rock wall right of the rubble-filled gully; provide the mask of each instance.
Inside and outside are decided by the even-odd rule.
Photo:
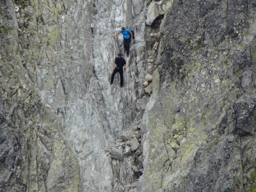
[[[168,7],[141,191],[255,191],[255,1]]]

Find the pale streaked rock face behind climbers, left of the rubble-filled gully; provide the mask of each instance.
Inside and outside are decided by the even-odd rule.
[[[145,1],[1,1],[0,190],[134,189],[139,155],[118,163],[104,149],[143,114],[145,12]],[[122,26],[136,41],[121,89],[109,77]]]

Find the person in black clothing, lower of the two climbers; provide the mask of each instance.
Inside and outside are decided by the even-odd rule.
[[[110,84],[113,84],[115,74],[117,72],[119,72],[119,74],[120,74],[120,86],[123,87],[123,85],[124,85],[123,73],[126,70],[126,61],[125,61],[124,58],[122,58],[122,53],[118,53],[117,56],[118,57],[115,59],[115,62],[113,63],[113,67],[112,67],[113,74],[111,76]],[[124,69],[123,69],[123,67],[124,67]]]

